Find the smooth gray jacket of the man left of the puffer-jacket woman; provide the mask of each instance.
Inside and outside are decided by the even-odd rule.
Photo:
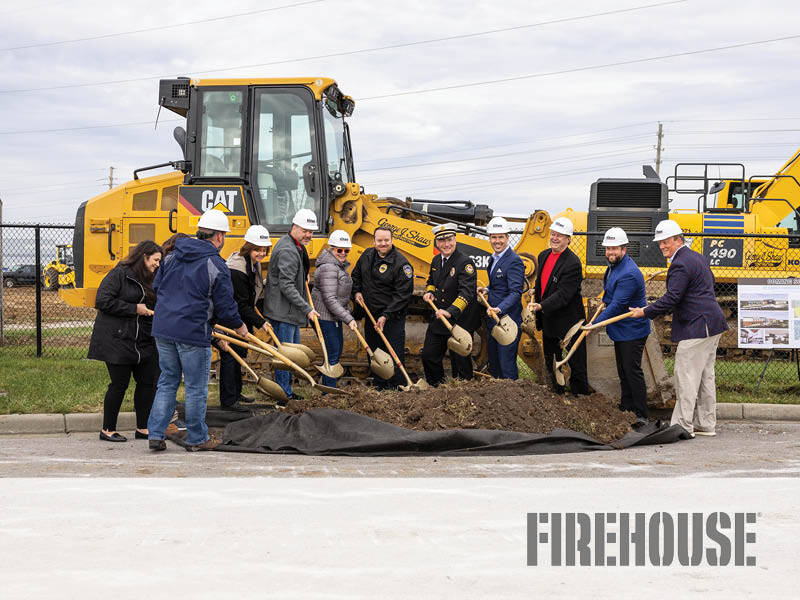
[[[300,253],[290,235],[278,240],[267,267],[263,314],[268,319],[305,327],[311,312]]]

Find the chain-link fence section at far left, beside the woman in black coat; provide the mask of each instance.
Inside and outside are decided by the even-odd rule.
[[[72,225],[0,225],[0,352],[83,358],[95,310],[58,295],[74,286]]]

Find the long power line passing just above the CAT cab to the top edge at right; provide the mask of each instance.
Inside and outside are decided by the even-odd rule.
[[[479,36],[484,36],[484,35],[492,35],[492,34],[496,34],[496,33],[506,33],[506,32],[510,32],[510,31],[518,31],[518,30],[522,30],[522,29],[532,29],[532,28],[535,28],[535,27],[542,27],[542,26],[545,26],[545,25],[552,25],[552,24],[556,24],[556,23],[565,23],[565,22],[568,22],[568,21],[579,21],[579,20],[584,20],[584,19],[591,19],[591,18],[594,18],[594,17],[618,14],[618,13],[622,13],[622,12],[632,12],[632,11],[636,11],[636,10],[645,10],[645,9],[648,9],[648,8],[666,6],[668,4],[677,4],[677,3],[680,3],[680,2],[686,2],[686,1],[688,1],[688,0],[673,0],[671,2],[662,2],[662,3],[658,3],[658,4],[647,4],[647,5],[644,5],[644,6],[635,6],[635,7],[632,7],[632,8],[626,8],[626,9],[620,9],[620,10],[612,10],[612,11],[606,11],[606,12],[601,12],[601,13],[592,13],[592,14],[589,14],[589,15],[580,15],[580,16],[576,16],[576,17],[565,17],[565,18],[562,18],[562,19],[553,19],[551,21],[541,21],[541,22],[538,22],[538,23],[529,23],[529,24],[526,24],[526,25],[517,25],[517,26],[514,26],[514,27],[505,27],[505,28],[502,28],[502,29],[487,29],[485,31],[476,31],[476,32],[464,33],[464,34],[460,34],[460,35],[452,35],[452,36],[446,36],[446,37],[430,38],[430,39],[427,39],[427,40],[417,40],[417,41],[413,41],[413,42],[400,42],[400,43],[397,43],[397,44],[388,44],[388,45],[385,45],[385,46],[375,46],[375,47],[372,47],[372,48],[361,48],[361,49],[358,49],[358,50],[348,50],[348,51],[345,51],[345,52],[332,52],[332,53],[328,53],[328,54],[317,54],[315,56],[305,56],[305,57],[301,57],[301,58],[287,58],[287,59],[275,60],[275,61],[271,61],[271,62],[254,63],[254,64],[247,64],[247,65],[235,65],[235,66],[229,66],[229,67],[215,67],[215,68],[207,68],[207,69],[196,69],[196,70],[193,70],[193,71],[186,71],[184,74],[186,74],[186,75],[200,75],[200,74],[205,74],[205,73],[222,73],[222,72],[225,72],[225,71],[235,71],[235,70],[238,70],[238,69],[263,68],[263,67],[270,67],[270,66],[274,66],[274,65],[284,65],[284,64],[288,64],[288,63],[294,63],[294,62],[305,62],[305,61],[309,61],[309,60],[320,60],[320,59],[326,59],[326,58],[339,58],[339,57],[342,57],[342,56],[353,56],[353,55],[357,55],[357,54],[364,54],[364,53],[368,53],[368,52],[378,52],[378,51],[382,51],[382,50],[396,50],[396,49],[399,49],[399,48],[409,48],[409,47],[412,47],[412,46],[421,46],[421,45],[424,45],[424,44],[435,44],[435,43],[439,43],[439,42],[447,42],[447,41],[451,41],[451,40],[467,39],[467,38],[479,37]],[[24,93],[24,92],[41,92],[41,91],[48,91],[48,90],[63,90],[63,89],[72,89],[72,88],[92,87],[92,86],[97,86],[97,85],[116,85],[116,84],[120,84],[120,83],[133,83],[133,82],[137,82],[137,81],[151,81],[151,80],[154,80],[154,79],[163,79],[163,78],[167,78],[167,77],[170,77],[170,76],[169,75],[158,75],[158,76],[149,76],[149,77],[134,77],[134,78],[129,78],[129,79],[115,79],[115,80],[110,80],[110,81],[97,81],[97,82],[92,82],[92,83],[77,83],[77,84],[68,84],[68,85],[38,87],[38,88],[21,88],[21,89],[15,89],[15,90],[0,90],[0,94],[15,94],[15,93]]]

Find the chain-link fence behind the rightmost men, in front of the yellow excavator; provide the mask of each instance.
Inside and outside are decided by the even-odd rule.
[[[653,242],[653,234],[628,233],[628,255],[648,276],[667,269],[667,261]],[[608,266],[602,232],[576,232],[573,252],[586,257],[583,295],[596,298],[603,292],[603,274]],[[703,254],[712,266],[715,293],[728,323],[717,350],[717,387],[730,392],[800,389],[800,357],[797,348],[741,348],[739,343],[739,280],[743,278],[786,279],[800,277],[800,236],[686,233],[686,243]],[[587,253],[588,249],[588,253]],[[666,271],[646,284],[648,302],[666,292]],[[599,302],[597,300],[596,302]],[[591,301],[590,301],[591,303]],[[764,325],[775,343],[800,339],[789,336],[789,328],[800,332],[800,310],[787,307],[785,319]],[[744,318],[744,317],[743,317]],[[748,323],[745,322],[745,325]],[[672,374],[676,344],[670,340],[672,315],[660,317],[654,326],[661,342],[667,369]],[[766,329],[766,327],[770,327]]]

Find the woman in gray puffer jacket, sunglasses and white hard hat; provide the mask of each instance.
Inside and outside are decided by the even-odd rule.
[[[349,310],[353,280],[347,273],[350,267],[347,255],[352,246],[347,232],[337,229],[328,238],[328,248],[317,257],[317,269],[314,271],[311,298],[314,308],[319,312],[319,326],[328,351],[328,362],[332,365],[338,364],[342,355],[342,323],[350,329],[358,327]],[[336,387],[336,379],[323,375],[322,384]]]

